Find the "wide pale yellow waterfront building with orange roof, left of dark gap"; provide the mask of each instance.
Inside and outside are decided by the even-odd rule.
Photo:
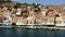
[[[42,17],[42,25],[54,25],[54,17],[47,15]]]

